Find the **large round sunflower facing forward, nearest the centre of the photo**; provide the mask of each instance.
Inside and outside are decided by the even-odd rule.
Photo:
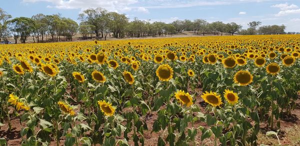
[[[161,81],[168,81],[173,77],[173,69],[168,64],[161,64],[156,69],[156,76]]]

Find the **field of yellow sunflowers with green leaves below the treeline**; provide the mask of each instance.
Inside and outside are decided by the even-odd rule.
[[[22,145],[257,145],[296,106],[299,58],[300,35],[4,44],[0,129],[19,119]]]

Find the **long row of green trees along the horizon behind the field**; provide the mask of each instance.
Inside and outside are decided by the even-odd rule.
[[[109,12],[104,8],[89,8],[78,15],[76,21],[61,17],[60,14],[44,15],[42,13],[32,17],[11,18],[0,8],[0,40],[14,38],[15,43],[25,43],[28,37],[34,42],[72,41],[72,36],[81,34],[82,39],[106,37],[146,37],[166,36],[182,31],[193,31],[194,34],[222,35],[225,33],[253,35],[253,34],[283,34],[284,25],[260,26],[261,22],[248,23],[249,28],[241,29],[235,22],[223,23],[222,21],[207,22],[204,19],[174,20],[171,23],[161,21],[150,22],[134,18],[129,21],[125,14]],[[260,26],[260,27],[259,27]]]

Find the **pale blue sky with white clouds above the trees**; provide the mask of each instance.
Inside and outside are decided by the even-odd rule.
[[[102,7],[124,13],[133,20],[163,21],[197,18],[208,22],[236,22],[247,28],[250,21],[262,25],[284,24],[285,31],[300,31],[300,0],[0,0],[12,17],[37,13],[56,14],[78,21],[80,12]]]

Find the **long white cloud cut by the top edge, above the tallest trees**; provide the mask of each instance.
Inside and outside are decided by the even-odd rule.
[[[22,0],[24,3],[33,3],[46,1],[51,3],[47,7],[60,9],[80,9],[102,7],[108,11],[128,11],[131,10],[130,4],[136,3],[137,0]]]

